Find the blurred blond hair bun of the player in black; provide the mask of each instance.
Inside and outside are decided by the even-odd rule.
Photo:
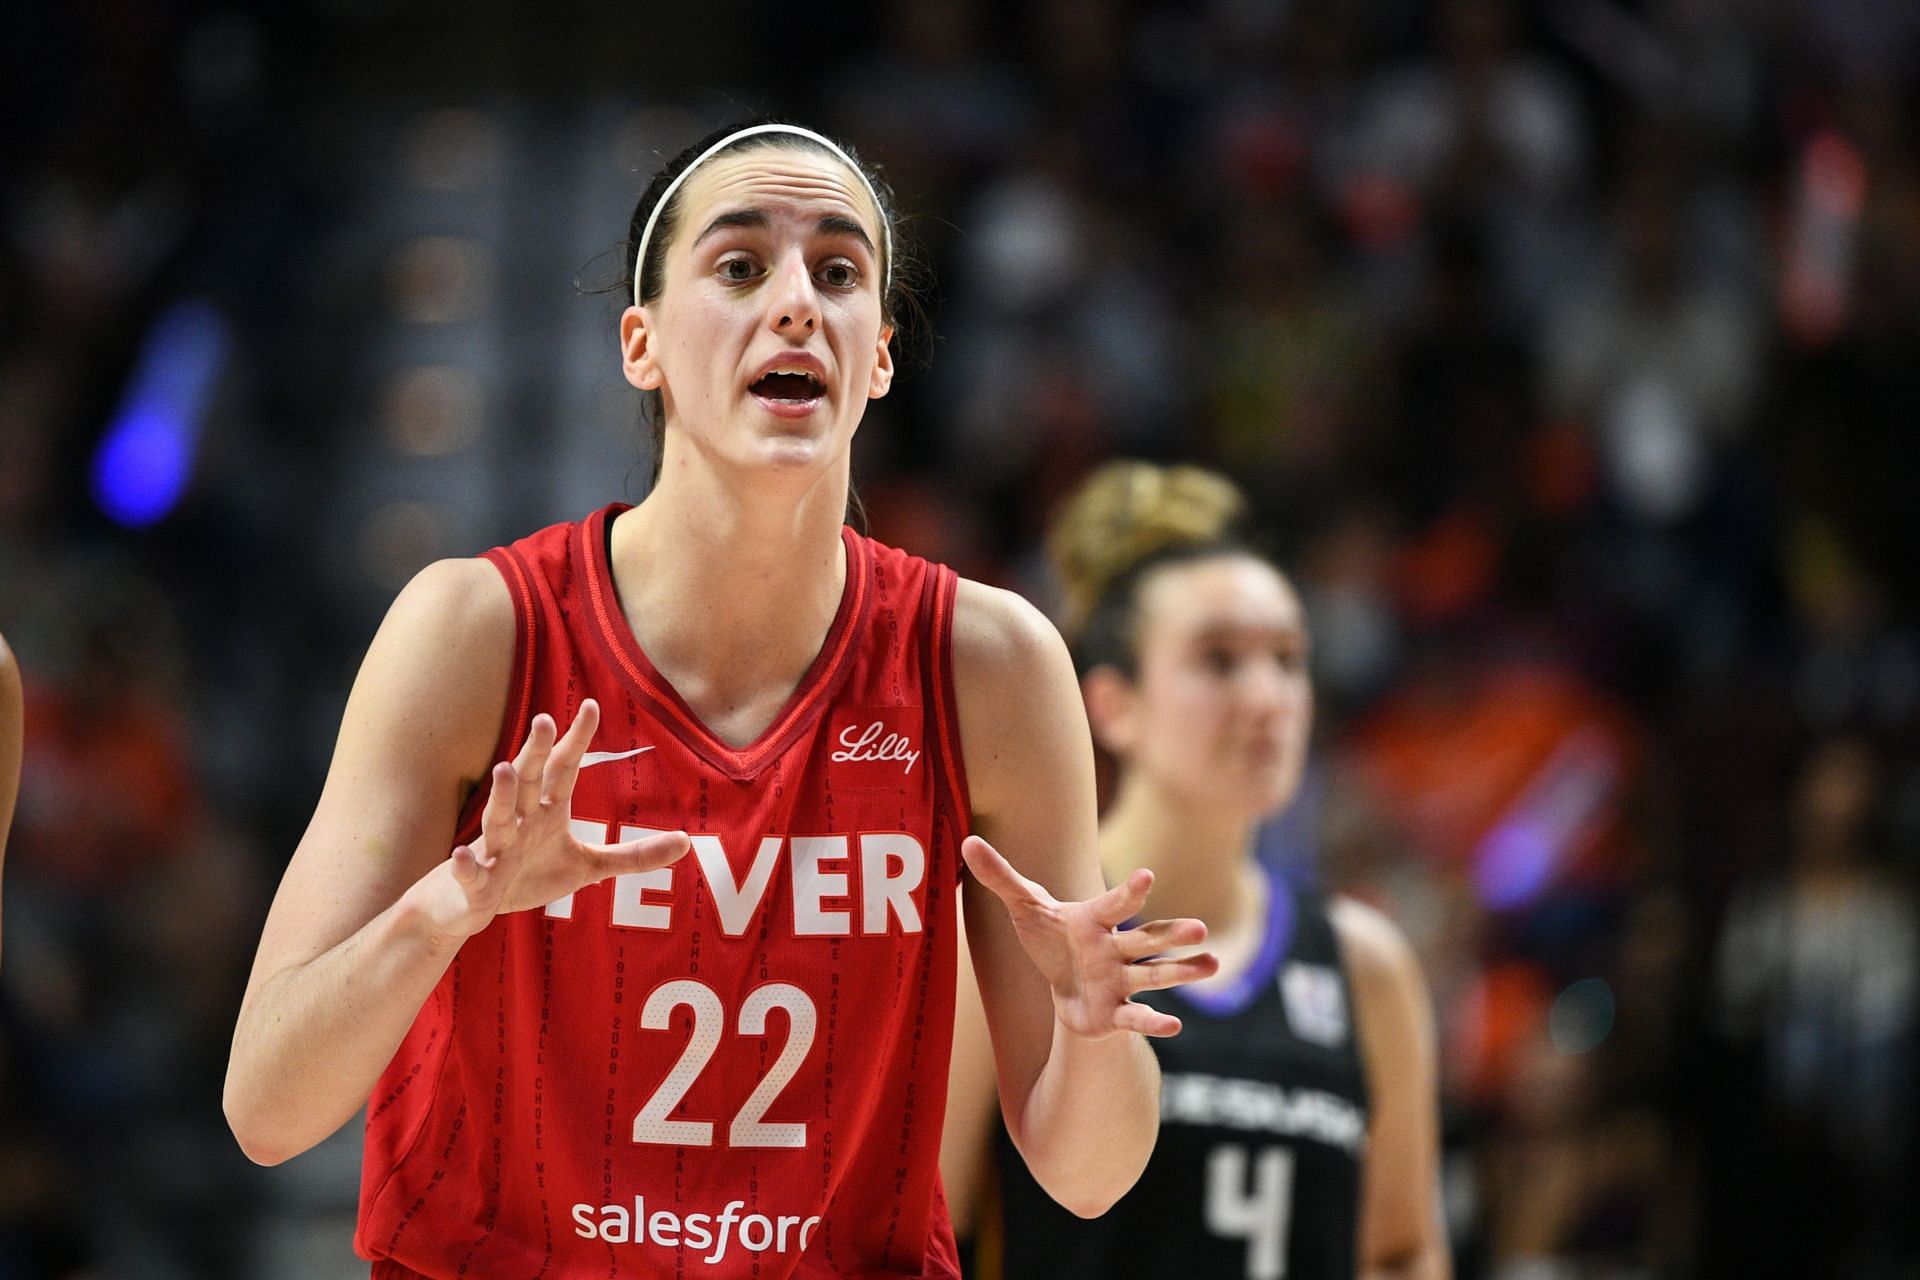
[[[1246,497],[1200,466],[1108,462],[1068,497],[1046,532],[1046,557],[1066,591],[1064,629],[1079,633],[1106,589],[1169,547],[1229,537]]]

